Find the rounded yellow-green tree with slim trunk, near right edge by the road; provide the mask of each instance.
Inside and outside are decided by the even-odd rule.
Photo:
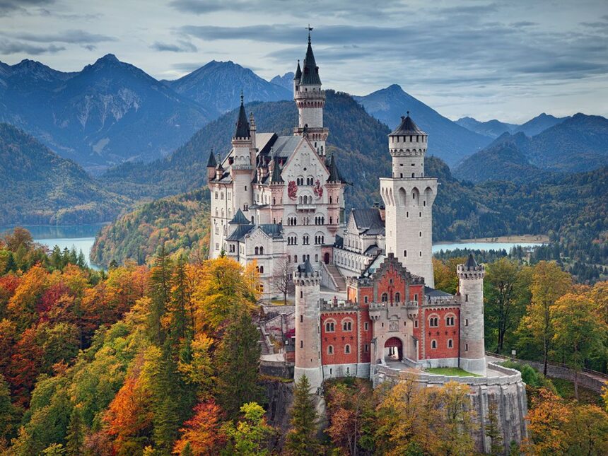
[[[604,328],[593,303],[585,296],[567,293],[557,300],[551,312],[553,342],[573,367],[574,392],[578,399],[578,371],[585,366],[585,359],[602,346]]]

